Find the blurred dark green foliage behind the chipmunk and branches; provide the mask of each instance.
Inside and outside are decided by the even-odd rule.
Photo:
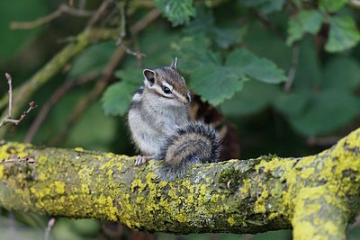
[[[95,10],[101,1],[75,1]],[[115,1],[118,3],[121,1]],[[67,39],[81,31],[86,18],[64,14],[39,28],[14,31],[11,22],[32,21],[67,1],[0,2],[0,93],[6,94],[4,72],[19,86],[49,61]],[[92,91],[96,79],[71,88],[55,102],[32,143],[85,147],[134,155],[124,117],[131,93],[142,82],[142,69],[179,59],[181,73],[202,101],[216,106],[237,126],[241,158],[268,153],[306,156],[347,135],[360,123],[360,5],[351,0],[155,0],[132,1],[128,22],[152,8],[162,17],[132,37],[130,48],[146,54],[127,55],[113,72],[110,86],[60,135],[76,102]],[[65,43],[64,43],[65,42]],[[85,75],[101,75],[114,40],[92,44],[32,95],[49,102],[60,85]],[[40,107],[5,139],[23,141]],[[61,137],[61,138],[60,138]],[[1,210],[0,227],[9,239],[39,239],[49,218]],[[14,238],[15,236],[16,238]],[[105,239],[103,223],[59,218],[54,239]],[[124,234],[123,239],[127,236]],[[158,239],[291,239],[291,231],[256,236],[227,234],[170,236]],[[348,239],[359,239],[358,224]]]

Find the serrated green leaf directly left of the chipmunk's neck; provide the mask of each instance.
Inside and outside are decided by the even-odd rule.
[[[123,115],[129,108],[132,94],[139,86],[120,82],[110,85],[103,93],[103,111],[106,115]]]

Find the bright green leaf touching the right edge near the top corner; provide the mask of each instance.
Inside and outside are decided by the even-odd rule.
[[[350,49],[359,42],[360,32],[356,29],[354,19],[347,16],[335,16],[329,21],[329,40],[325,49],[329,52],[338,52]]]

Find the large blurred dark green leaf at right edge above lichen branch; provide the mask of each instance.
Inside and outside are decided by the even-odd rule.
[[[300,133],[314,137],[341,128],[359,114],[360,100],[334,89],[319,93],[309,109],[290,119],[290,123]]]

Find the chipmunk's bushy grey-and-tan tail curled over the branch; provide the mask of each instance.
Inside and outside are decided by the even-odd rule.
[[[220,138],[218,132],[201,121],[192,121],[175,135],[166,139],[157,159],[165,159],[160,176],[165,180],[181,177],[188,164],[219,161]]]

